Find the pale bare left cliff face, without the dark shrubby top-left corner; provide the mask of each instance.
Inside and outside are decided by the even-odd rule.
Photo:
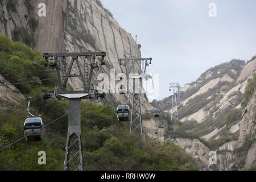
[[[74,1],[58,3],[47,1],[48,17],[39,18],[39,27],[35,34],[36,42],[38,42],[36,47],[40,51],[74,51],[73,25],[75,15],[73,5]],[[125,72],[125,67],[118,64],[119,58],[141,57],[141,52],[133,37],[119,26],[100,2],[95,0],[77,1],[76,16],[76,52],[105,51],[107,53],[106,65],[100,66],[100,71],[93,74],[92,84],[94,86],[100,82],[97,80],[99,73],[106,73],[110,78],[110,69],[115,69],[115,75]],[[84,60],[79,61],[81,64],[84,63]],[[140,65],[135,65],[133,71],[139,73],[139,67]],[[69,80],[68,84],[71,88],[81,88],[82,85],[81,81],[76,78]],[[107,94],[106,100],[102,102],[110,103],[116,107],[127,100],[127,96]],[[144,113],[151,106],[143,95],[141,100],[143,102],[142,112]]]

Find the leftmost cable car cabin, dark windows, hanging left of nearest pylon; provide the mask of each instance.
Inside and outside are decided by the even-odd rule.
[[[42,128],[43,121],[42,118],[27,118],[24,122],[24,135],[28,135],[33,133],[34,131]],[[28,142],[34,142],[34,141],[42,141],[44,138],[44,128],[36,131],[35,133],[29,135],[26,137]]]

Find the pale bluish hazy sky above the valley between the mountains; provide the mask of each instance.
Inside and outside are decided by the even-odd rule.
[[[148,73],[159,73],[159,98],[169,82],[196,81],[210,67],[256,55],[255,0],[101,0],[117,22],[137,35]],[[210,3],[217,16],[210,17]],[[154,68],[155,69],[154,69]]]

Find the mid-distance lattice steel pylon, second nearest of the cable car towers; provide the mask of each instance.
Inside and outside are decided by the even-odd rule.
[[[145,136],[143,134],[142,129],[142,117],[141,117],[141,100],[139,98],[139,88],[136,88],[135,82],[139,81],[139,85],[142,85],[142,78],[147,78],[146,75],[146,68],[149,64],[151,64],[152,58],[130,58],[130,59],[118,59],[120,65],[126,66],[126,76],[127,78],[133,79],[133,102],[131,105],[131,120],[130,120],[130,133],[139,134],[142,140],[145,140]],[[142,61],[142,69],[139,66],[138,61]],[[149,63],[148,63],[149,61]],[[130,68],[127,68],[127,64],[132,62]],[[134,68],[135,63],[141,69],[141,75],[138,76],[131,76],[130,73]]]

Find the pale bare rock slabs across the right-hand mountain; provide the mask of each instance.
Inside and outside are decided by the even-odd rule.
[[[236,66],[239,68],[239,65]],[[213,68],[214,70],[214,68]],[[212,96],[202,99],[211,99],[214,97],[214,100],[208,105],[202,107],[199,111],[188,115],[187,117],[181,118],[181,121],[186,122],[188,120],[196,120],[200,126],[204,124],[204,121],[210,121],[209,118],[220,117],[222,113],[222,121],[224,120],[224,112],[228,112],[231,109],[241,108],[242,99],[241,96],[245,92],[247,82],[253,78],[256,73],[256,59],[252,59],[245,64],[241,71],[231,69],[229,72],[225,68],[217,69],[217,75],[223,75],[221,77],[216,77],[212,74],[214,71],[207,71],[199,79],[204,79],[207,81],[203,86],[200,87],[199,91],[192,94],[182,103],[183,105],[187,104],[189,100],[193,99],[200,94],[207,93],[208,89],[215,88],[216,92],[212,93]],[[225,73],[227,72],[227,73]],[[228,75],[227,75],[228,74]],[[229,76],[230,75],[230,76]],[[223,79],[225,78],[225,79]],[[211,80],[212,79],[212,80]],[[218,88],[218,83],[222,80],[225,80],[226,83],[230,84],[220,84]],[[190,85],[189,88],[185,89],[185,92],[188,92],[189,89],[195,89],[200,86],[199,82],[195,82]],[[230,86],[231,85],[231,86]],[[225,88],[224,88],[225,86]],[[217,97],[216,97],[217,96]],[[187,105],[189,105],[188,103]],[[217,152],[217,168],[220,170],[247,170],[255,169],[255,160],[256,160],[256,148],[255,148],[255,93],[251,97],[250,101],[247,103],[245,108],[242,110],[240,121],[231,121],[228,125],[221,125],[221,127],[212,127],[210,123],[208,124],[209,128],[212,128],[207,134],[204,133],[201,138],[205,140],[214,139],[216,141],[221,139],[222,133],[228,132],[230,136],[237,136],[236,140],[222,144],[222,146],[216,148]],[[216,121],[216,120],[212,120]],[[214,125],[214,123],[212,123]],[[222,132],[223,131],[223,132]]]

